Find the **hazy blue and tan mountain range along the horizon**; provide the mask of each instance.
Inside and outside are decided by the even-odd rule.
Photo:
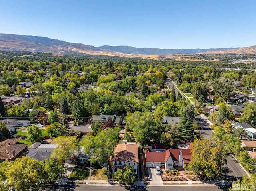
[[[244,48],[215,48],[215,49],[158,49],[135,48],[130,46],[100,46],[94,47],[82,43],[69,43],[47,37],[26,36],[15,34],[0,34],[0,50],[3,51],[31,51],[51,52],[59,55],[108,55],[120,57],[143,57],[143,55],[168,55],[168,54],[255,54],[256,46]]]

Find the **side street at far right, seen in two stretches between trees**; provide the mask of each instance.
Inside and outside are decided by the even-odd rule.
[[[201,126],[200,134],[203,136],[203,138],[211,138],[212,132],[213,132],[212,128],[210,128],[211,122],[203,114],[196,116],[196,120],[200,123],[200,126]],[[237,178],[242,178],[244,175],[247,175],[244,169],[242,169],[242,167],[238,163],[238,161],[235,158],[233,158],[230,154],[227,155],[226,159],[228,161],[227,163],[227,180],[228,181],[232,182]]]

